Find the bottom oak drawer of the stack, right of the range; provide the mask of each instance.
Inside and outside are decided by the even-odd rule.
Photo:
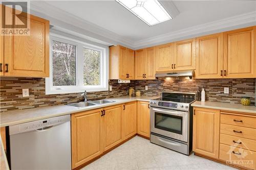
[[[231,147],[226,144],[220,144],[219,158],[223,161],[249,169],[255,169],[256,167],[256,152]]]

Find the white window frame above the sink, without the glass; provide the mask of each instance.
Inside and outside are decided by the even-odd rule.
[[[53,56],[52,45],[53,41],[60,41],[76,45],[76,85],[74,86],[53,86]],[[49,78],[46,78],[46,94],[63,94],[63,93],[78,93],[84,90],[93,91],[108,91],[109,89],[109,50],[107,47],[88,43],[85,40],[81,41],[69,36],[63,36],[55,33],[50,33],[50,60]],[[100,85],[84,86],[83,85],[83,54],[82,49],[99,51],[101,54],[100,60]]]

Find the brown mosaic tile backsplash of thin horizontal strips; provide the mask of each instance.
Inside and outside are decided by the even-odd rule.
[[[206,100],[214,102],[240,103],[242,96],[255,102],[255,79],[200,79],[169,78],[162,80],[133,80],[130,84],[118,84],[110,80],[112,91],[89,92],[89,100],[115,98],[128,95],[129,87],[141,91],[141,95],[160,96],[162,91],[196,92],[205,87]],[[145,90],[145,85],[148,90]],[[229,87],[229,94],[224,94]],[[22,89],[29,88],[29,97],[22,97]],[[81,93],[45,94],[44,78],[7,78],[0,80],[0,112],[30,109],[81,101]]]

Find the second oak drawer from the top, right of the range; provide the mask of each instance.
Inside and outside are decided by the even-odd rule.
[[[256,140],[256,129],[221,124],[220,133]]]

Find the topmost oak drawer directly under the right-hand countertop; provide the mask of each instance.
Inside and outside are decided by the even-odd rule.
[[[256,128],[256,117],[221,113],[221,124]]]

